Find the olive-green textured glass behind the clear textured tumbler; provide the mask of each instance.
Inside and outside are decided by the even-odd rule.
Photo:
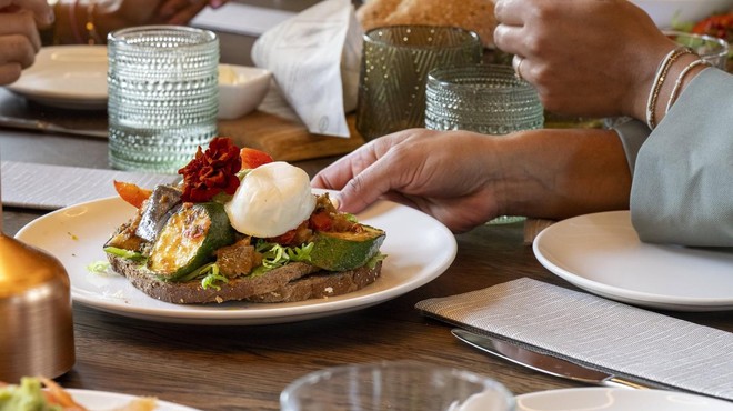
[[[475,64],[479,36],[453,27],[394,26],[364,34],[357,129],[366,140],[423,127],[425,80],[435,67]]]

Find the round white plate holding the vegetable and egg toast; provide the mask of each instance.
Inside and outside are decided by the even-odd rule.
[[[195,324],[268,324],[300,321],[362,309],[404,294],[435,279],[453,262],[453,234],[433,218],[392,202],[378,202],[360,221],[386,231],[388,254],[381,277],[344,295],[292,303],[180,305],[158,301],[117,274],[90,272],[106,261],[102,245],[134,209],[117,197],[68,207],[46,214],[18,232],[21,241],[49,251],[71,279],[71,297],[99,310],[133,318]]]

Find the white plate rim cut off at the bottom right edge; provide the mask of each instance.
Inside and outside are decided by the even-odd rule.
[[[516,395],[516,411],[733,411],[733,403],[661,390],[573,388]]]

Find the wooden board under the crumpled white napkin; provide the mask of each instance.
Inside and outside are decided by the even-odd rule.
[[[219,136],[239,147],[262,150],[275,160],[298,161],[345,154],[364,143],[357,131],[355,114],[347,116],[350,137],[313,134],[272,87],[260,109],[234,120],[219,120]]]

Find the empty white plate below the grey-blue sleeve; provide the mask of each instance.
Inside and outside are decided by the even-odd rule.
[[[560,221],[533,249],[548,270],[612,300],[676,311],[733,309],[733,249],[643,243],[629,211]]]

